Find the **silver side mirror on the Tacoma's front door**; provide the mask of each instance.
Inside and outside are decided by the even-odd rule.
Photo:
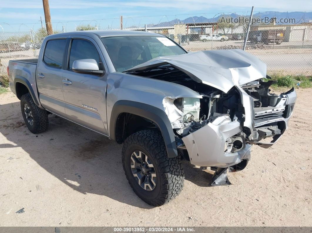
[[[81,74],[94,74],[102,76],[105,71],[99,70],[99,66],[94,59],[80,59],[73,62],[72,70]]]

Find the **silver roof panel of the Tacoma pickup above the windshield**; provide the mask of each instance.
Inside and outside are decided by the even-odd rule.
[[[64,32],[64,33],[57,33],[53,35],[49,35],[48,37],[52,37],[55,35],[97,35],[99,37],[104,36],[120,36],[120,35],[157,35],[163,36],[158,33],[153,32],[145,32],[145,31],[134,31],[134,30],[87,30],[87,31],[72,31],[72,32]]]

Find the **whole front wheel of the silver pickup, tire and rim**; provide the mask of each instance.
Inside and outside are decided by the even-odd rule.
[[[130,135],[122,148],[122,163],[131,188],[149,205],[168,203],[183,188],[180,157],[168,158],[159,131],[142,130]]]

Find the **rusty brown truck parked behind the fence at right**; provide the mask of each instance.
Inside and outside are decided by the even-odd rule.
[[[281,44],[284,41],[285,30],[258,30],[251,31],[248,40],[251,43],[276,43]]]

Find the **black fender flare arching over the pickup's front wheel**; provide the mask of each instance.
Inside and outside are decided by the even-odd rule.
[[[163,140],[166,145],[169,158],[178,156],[177,145],[171,123],[166,113],[152,105],[131,101],[131,100],[118,100],[112,109],[110,116],[110,138],[116,140],[115,129],[116,122],[119,114],[131,113],[149,119],[154,122],[160,129]]]

